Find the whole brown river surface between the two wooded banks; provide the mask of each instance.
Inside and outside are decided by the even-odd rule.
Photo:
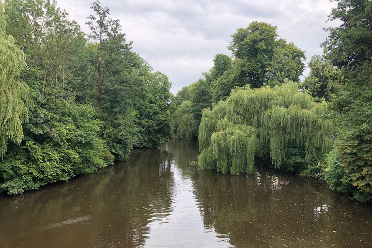
[[[128,162],[0,197],[0,248],[372,247],[371,206],[258,165],[197,171],[173,140]]]

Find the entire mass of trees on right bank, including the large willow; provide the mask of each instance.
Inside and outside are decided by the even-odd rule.
[[[327,30],[325,54],[311,58],[310,74],[299,91],[295,84],[283,82],[299,82],[304,53],[278,39],[276,27],[270,24],[252,22],[238,29],[229,47],[231,63],[225,60],[227,66],[217,78],[211,73],[216,63],[204,74],[212,102],[224,101],[203,110],[198,165],[240,174],[252,171],[255,158],[270,157],[275,167],[325,180],[334,190],[370,202],[371,18],[371,1],[338,0],[329,19],[341,25]],[[185,110],[195,104],[191,99],[188,91],[183,96],[189,100],[183,107],[188,107],[178,109],[190,116],[178,119],[186,130],[198,125],[191,111]],[[192,125],[183,125],[190,118],[194,118]]]

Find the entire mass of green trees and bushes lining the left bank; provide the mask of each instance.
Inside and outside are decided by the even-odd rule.
[[[0,6],[0,192],[68,180],[172,137],[168,78],[132,51],[108,8],[91,8],[88,41],[55,1]]]

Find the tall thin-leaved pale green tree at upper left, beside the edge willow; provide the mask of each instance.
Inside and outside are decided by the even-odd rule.
[[[14,20],[7,31],[24,50],[28,67],[42,74],[44,87],[58,88],[62,98],[76,90],[73,71],[83,64],[77,60],[86,44],[77,22],[50,0],[6,0],[5,11]]]

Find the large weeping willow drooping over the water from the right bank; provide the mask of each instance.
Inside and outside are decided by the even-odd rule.
[[[307,158],[327,150],[332,123],[323,118],[325,102],[316,103],[296,83],[234,90],[226,101],[204,109],[199,127],[198,164],[233,175],[251,172],[256,155],[269,151],[275,167],[286,162],[290,144],[304,147]]]

